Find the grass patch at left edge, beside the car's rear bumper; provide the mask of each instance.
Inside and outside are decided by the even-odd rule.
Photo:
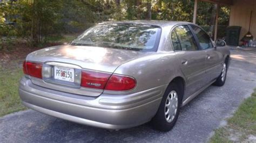
[[[6,70],[0,67],[0,117],[26,109],[18,96],[19,79],[22,75],[21,68]]]

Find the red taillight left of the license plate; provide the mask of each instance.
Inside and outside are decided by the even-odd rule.
[[[27,74],[33,77],[42,78],[42,66],[43,66],[42,63],[24,61],[23,72],[24,74]]]

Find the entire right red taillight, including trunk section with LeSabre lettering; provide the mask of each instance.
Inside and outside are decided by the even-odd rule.
[[[136,80],[130,76],[82,70],[81,86],[86,88],[125,91],[133,89],[136,86]]]

